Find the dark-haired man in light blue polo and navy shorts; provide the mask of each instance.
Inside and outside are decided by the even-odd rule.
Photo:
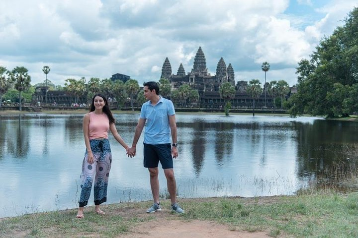
[[[144,96],[148,102],[142,105],[140,118],[135,129],[132,147],[128,156],[136,154],[138,139],[147,121],[144,132],[144,167],[148,168],[154,204],[147,213],[161,211],[159,202],[158,164],[161,162],[167,179],[168,191],[172,202],[172,211],[184,213],[176,201],[177,184],[174,177],[173,158],[178,157],[177,124],[172,101],[159,96],[159,86],[156,82],[144,84]],[[172,145],[171,137],[172,134]],[[173,156],[173,157],[172,157]]]

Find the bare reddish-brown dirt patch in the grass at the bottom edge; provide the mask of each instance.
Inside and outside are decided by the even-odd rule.
[[[268,238],[265,232],[230,231],[225,225],[208,221],[158,220],[143,223],[121,238]]]

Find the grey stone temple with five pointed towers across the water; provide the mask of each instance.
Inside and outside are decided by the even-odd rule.
[[[210,75],[206,68],[204,52],[199,47],[194,58],[194,65],[190,72],[185,74],[185,69],[180,63],[177,74],[172,73],[172,66],[168,58],[164,60],[161,78],[167,78],[175,90],[183,84],[189,84],[191,88],[198,90],[200,108],[220,108],[224,100],[220,97],[219,87],[224,82],[235,86],[235,98],[232,100],[232,108],[250,108],[253,105],[252,98],[246,93],[247,81],[238,81],[235,85],[234,68],[231,63],[226,67],[225,60],[221,58],[216,66],[216,74]],[[268,83],[267,83],[268,85]],[[267,86],[266,85],[266,86]],[[267,94],[266,105],[273,108],[272,98]],[[265,106],[265,95],[261,95],[255,101],[255,107]]]

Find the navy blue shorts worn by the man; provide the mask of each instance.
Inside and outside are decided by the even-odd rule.
[[[171,144],[151,145],[144,144],[144,167],[157,168],[159,161],[163,169],[173,169],[173,157]]]

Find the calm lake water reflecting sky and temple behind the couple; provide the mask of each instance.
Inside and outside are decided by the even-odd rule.
[[[0,117],[0,217],[76,208],[85,152],[82,115]],[[139,115],[115,115],[131,145]],[[346,159],[357,123],[277,116],[177,115],[179,158],[174,160],[179,198],[293,194],[333,161]],[[109,135],[113,162],[107,204],[151,200],[137,156]],[[166,180],[160,171],[161,195]],[[93,193],[93,192],[92,192]],[[93,205],[91,194],[89,205]]]

